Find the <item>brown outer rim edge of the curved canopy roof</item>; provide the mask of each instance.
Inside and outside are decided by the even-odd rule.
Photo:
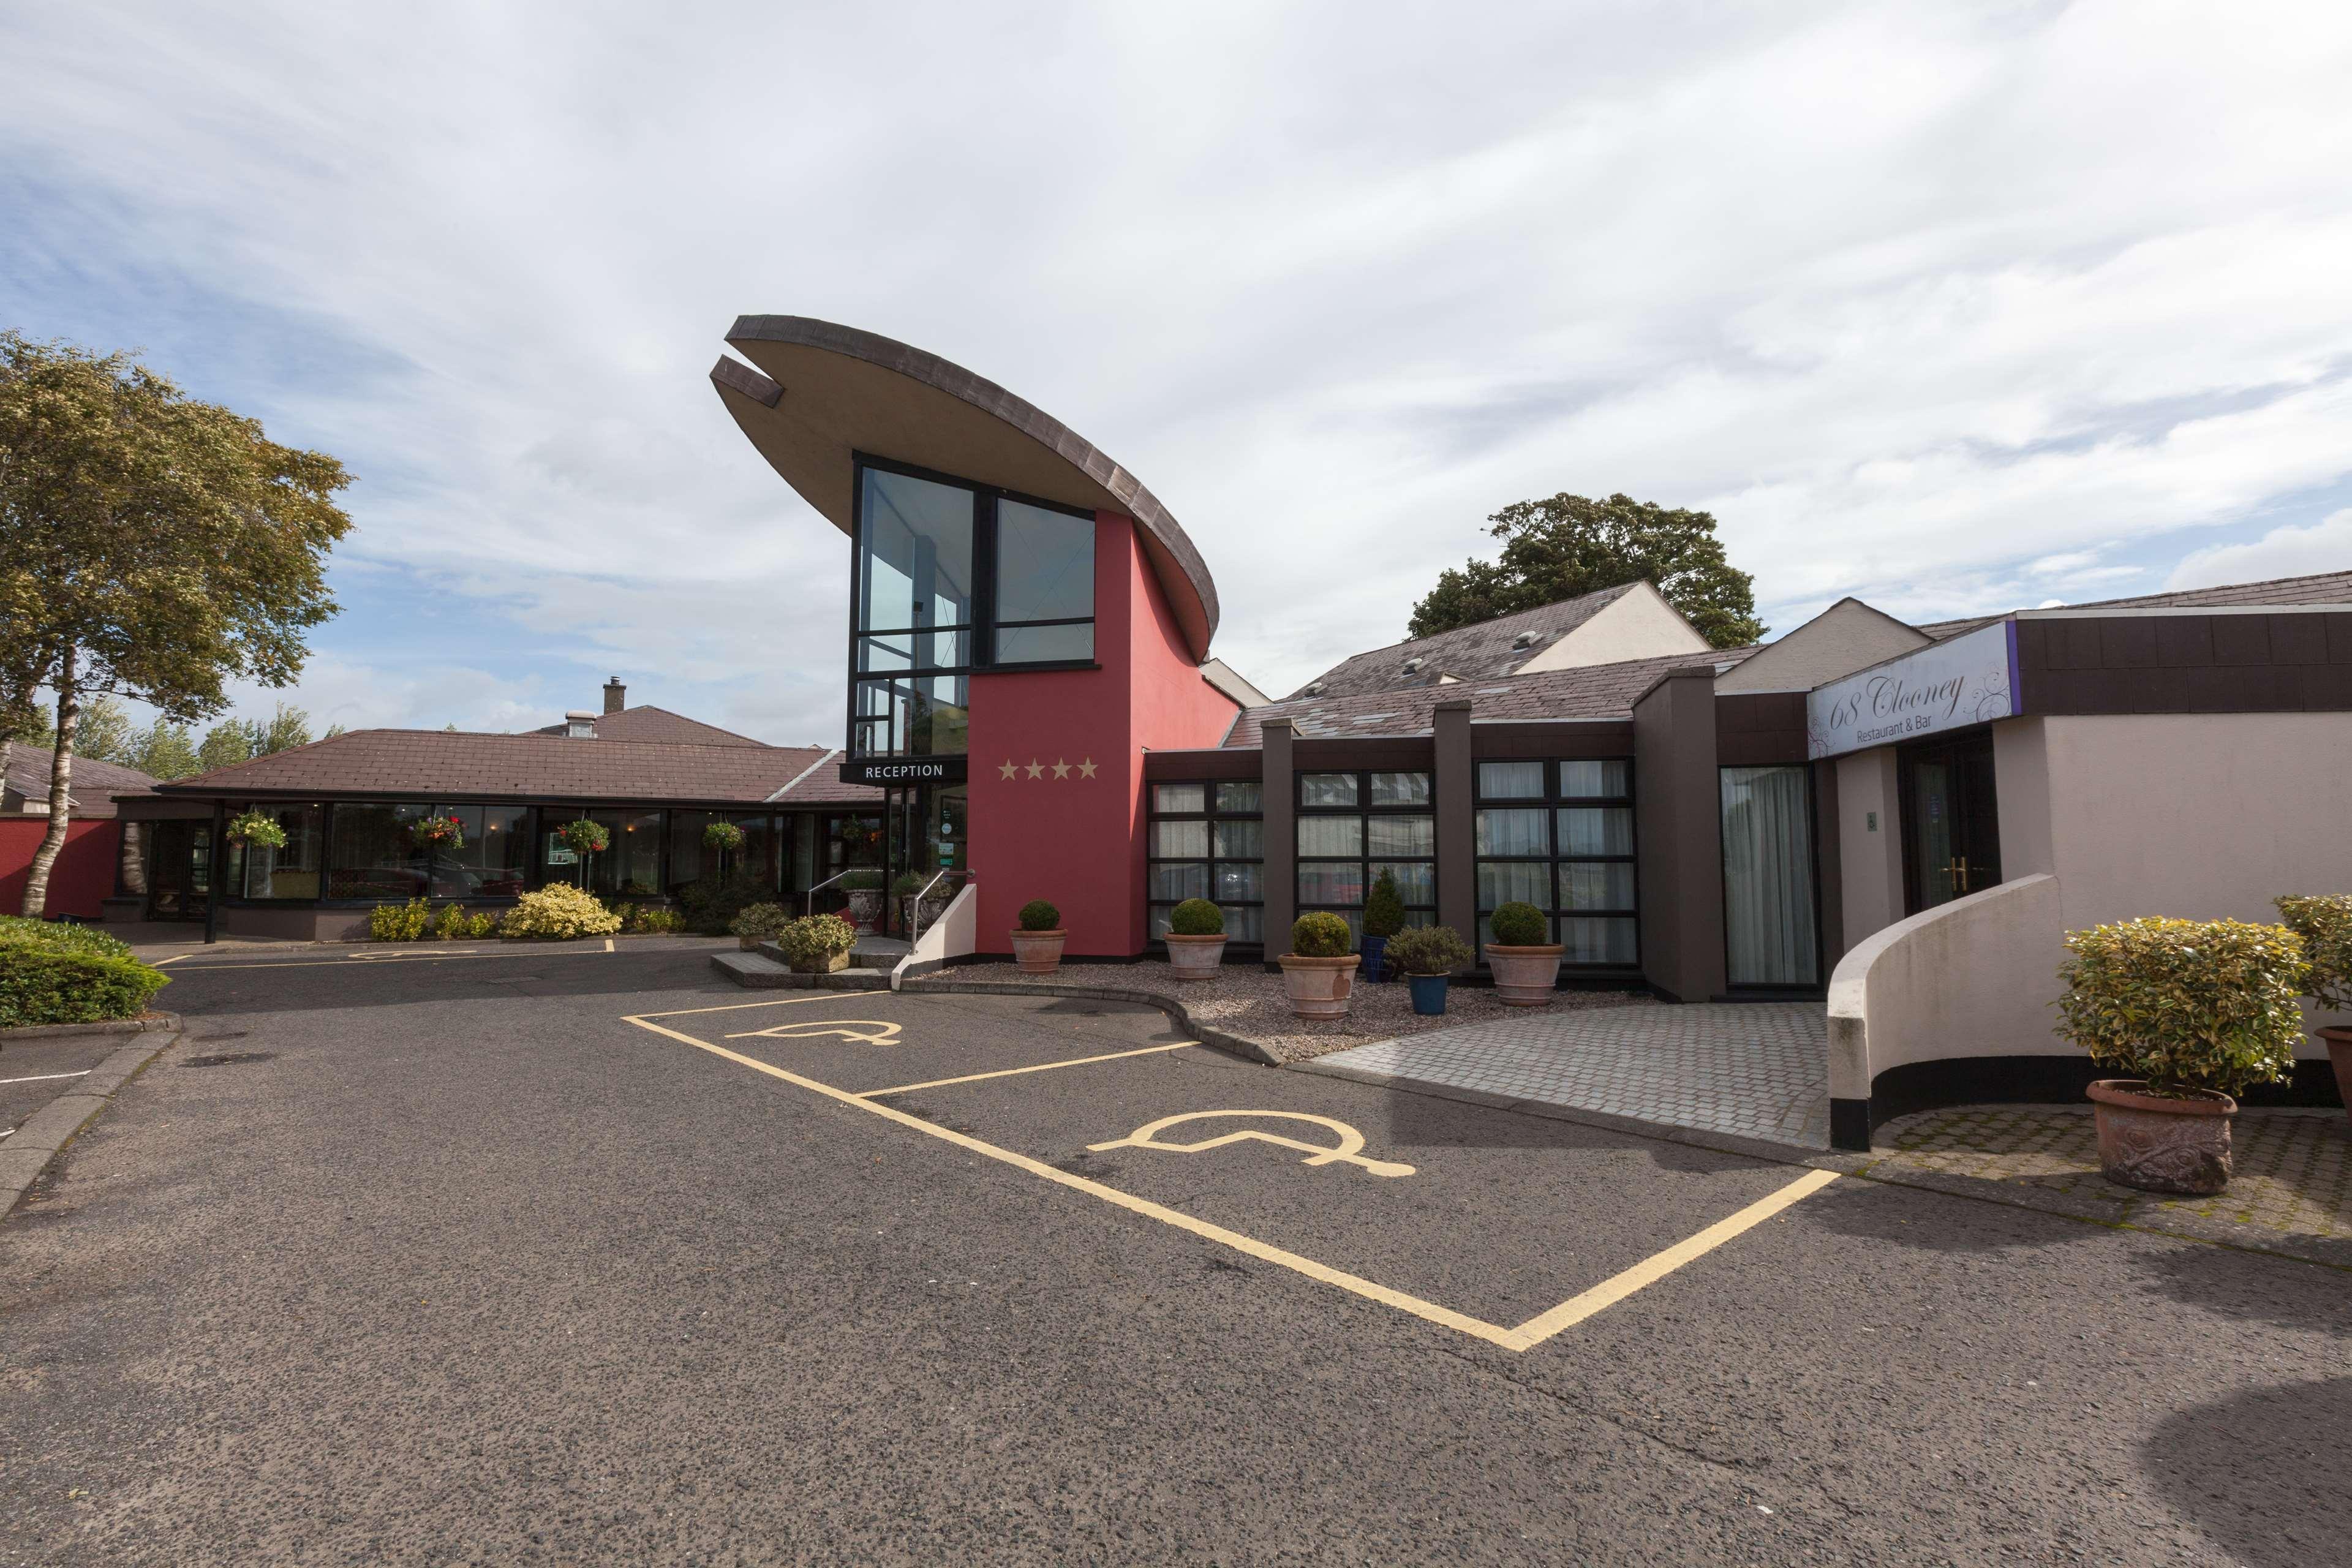
[[[1070,430],[1070,425],[950,360],[875,331],[842,327],[840,322],[821,322],[807,315],[741,315],[729,329],[727,341],[786,343],[858,360],[981,409],[1014,433],[1037,442],[1103,489],[1117,503],[1117,510],[1134,520],[1136,529],[1141,529],[1152,576],[1160,581],[1178,628],[1183,628],[1192,658],[1209,658],[1209,642],[1216,637],[1218,602],[1216,581],[1209,576],[1207,562],[1202,562],[1192,538],[1160,498],[1141,480],[1112,463],[1098,447]],[[710,369],[710,381],[753,444],[760,444],[755,409],[776,409],[790,393],[788,386],[727,355],[720,355],[720,362]],[[736,400],[743,402],[739,404]],[[769,461],[774,465],[774,458]],[[828,510],[814,496],[809,501],[818,510]]]

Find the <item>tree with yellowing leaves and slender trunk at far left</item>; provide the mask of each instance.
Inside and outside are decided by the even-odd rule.
[[[285,686],[334,614],[327,552],[350,529],[332,456],[167,376],[71,343],[0,331],[0,677],[56,696],[49,832],[24,912],[66,846],[82,705],[139,698],[174,724],[223,686]]]

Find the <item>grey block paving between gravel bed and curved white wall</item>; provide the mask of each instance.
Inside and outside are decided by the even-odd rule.
[[[1818,1001],[1529,1009],[1496,1023],[1338,1051],[1324,1063],[1830,1147],[1830,1044]]]

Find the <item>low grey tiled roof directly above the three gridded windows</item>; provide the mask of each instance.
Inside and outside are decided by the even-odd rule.
[[[1251,708],[1225,736],[1230,748],[1265,743],[1265,719],[1291,719],[1312,741],[1357,736],[1425,736],[1435,724],[1437,703],[1470,698],[1470,719],[1623,719],[1632,703],[1670,670],[1736,665],[1755,649],[1708,649],[1703,654],[1665,654],[1628,658],[1613,665],[1576,665],[1505,675],[1501,679],[1461,682],[1454,686],[1416,686],[1411,691],[1357,691],[1350,696],[1303,696]]]

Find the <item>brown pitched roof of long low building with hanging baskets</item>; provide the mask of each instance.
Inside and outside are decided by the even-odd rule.
[[[576,802],[870,802],[842,785],[821,745],[675,745],[449,729],[355,729],[230,769],[179,778],[169,795],[475,797]]]

